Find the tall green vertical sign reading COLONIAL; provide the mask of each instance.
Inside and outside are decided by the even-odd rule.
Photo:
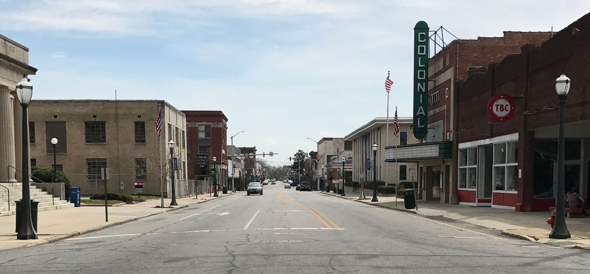
[[[428,133],[428,24],[414,27],[414,137]]]

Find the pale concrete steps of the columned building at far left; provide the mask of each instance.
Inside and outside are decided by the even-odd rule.
[[[0,185],[0,216],[15,214],[15,201],[22,198],[22,183],[0,183]],[[10,197],[8,197],[8,190],[2,186],[8,187]],[[42,189],[38,189],[36,186],[30,187],[30,193],[31,199],[39,202],[38,211],[74,207],[73,203],[69,203],[67,200],[60,200],[59,197],[53,197],[53,195],[44,192]]]

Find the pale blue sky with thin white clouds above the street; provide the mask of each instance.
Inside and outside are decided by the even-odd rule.
[[[265,158],[278,165],[316,150],[307,137],[385,117],[388,70],[390,117],[395,105],[411,116],[418,21],[476,39],[559,31],[587,12],[584,0],[0,0],[0,34],[30,49],[36,99],[117,90],[221,110],[228,144],[244,130],[234,145],[278,153]]]

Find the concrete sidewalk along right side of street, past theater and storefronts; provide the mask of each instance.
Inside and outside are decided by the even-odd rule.
[[[355,202],[415,213],[430,217],[431,219],[464,222],[470,225],[499,230],[499,233],[503,235],[531,240],[533,242],[590,250],[590,218],[588,217],[566,218],[566,224],[572,237],[565,240],[557,240],[549,239],[551,226],[546,222],[547,218],[550,217],[549,211],[515,212],[514,210],[494,209],[491,207],[444,204],[438,201],[418,201],[418,210],[405,209],[404,199],[398,198],[396,206],[395,197],[379,196],[379,202],[372,203],[372,196],[369,192],[370,191],[365,190],[365,195],[368,198],[367,200],[355,200]],[[334,193],[324,194],[340,197],[339,194]],[[346,194],[346,198],[355,197],[355,199],[357,199],[358,196],[359,193],[354,193],[354,195],[350,196],[349,194]]]

